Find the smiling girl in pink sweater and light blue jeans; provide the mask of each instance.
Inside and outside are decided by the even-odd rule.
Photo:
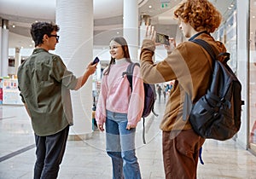
[[[135,153],[137,123],[143,114],[144,90],[140,69],[135,66],[132,92],[126,75],[131,63],[125,38],[116,37],[109,44],[111,61],[102,76],[101,93],[96,107],[99,130],[106,128],[107,153],[112,159],[113,178],[141,178]]]

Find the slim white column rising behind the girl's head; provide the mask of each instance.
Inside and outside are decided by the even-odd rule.
[[[138,47],[138,4],[137,0],[124,0],[123,34],[129,45],[131,61],[139,61]]]

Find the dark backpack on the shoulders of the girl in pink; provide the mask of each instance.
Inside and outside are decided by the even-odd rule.
[[[123,76],[126,74],[127,79],[130,83],[131,91],[132,91],[132,74],[134,70],[134,66],[140,66],[139,63],[131,63],[127,66],[126,72],[123,72]],[[144,86],[144,108],[143,108],[143,143],[146,143],[145,140],[145,118],[152,112],[155,116],[158,116],[157,113],[154,112],[154,101],[155,101],[155,87],[154,84],[146,84],[143,83]]]

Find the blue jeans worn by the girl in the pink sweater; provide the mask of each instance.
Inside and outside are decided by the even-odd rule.
[[[113,179],[141,179],[135,153],[136,129],[126,130],[126,113],[107,111],[107,153],[112,159]]]

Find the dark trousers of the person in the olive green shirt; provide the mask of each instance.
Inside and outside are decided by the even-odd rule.
[[[55,179],[67,144],[69,126],[50,136],[35,134],[37,161],[34,166],[34,179]]]

